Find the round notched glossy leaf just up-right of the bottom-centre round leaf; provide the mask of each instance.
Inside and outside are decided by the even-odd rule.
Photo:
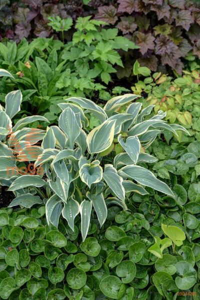
[[[131,260],[123,260],[116,267],[116,274],[123,283],[129,283],[136,274],[136,266]]]

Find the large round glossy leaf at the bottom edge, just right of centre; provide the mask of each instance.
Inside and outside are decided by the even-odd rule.
[[[105,296],[112,299],[118,299],[121,284],[122,282],[118,277],[110,275],[100,281],[99,287]]]

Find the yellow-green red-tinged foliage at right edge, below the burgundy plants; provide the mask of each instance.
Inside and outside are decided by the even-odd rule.
[[[134,93],[143,95],[140,100],[144,107],[149,104],[154,105],[154,112],[159,109],[166,111],[166,120],[170,123],[179,122],[187,128],[191,138],[181,134],[179,141],[185,138],[199,140],[200,76],[198,68],[184,70],[181,77],[174,79],[161,72],[150,74],[150,69],[141,67],[136,61],[133,73],[137,76],[137,82],[131,88]]]

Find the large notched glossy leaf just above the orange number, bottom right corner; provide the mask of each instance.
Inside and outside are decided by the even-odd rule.
[[[176,274],[175,284],[179,289],[189,289],[196,282],[196,271],[193,266],[186,261],[178,261],[175,264]]]

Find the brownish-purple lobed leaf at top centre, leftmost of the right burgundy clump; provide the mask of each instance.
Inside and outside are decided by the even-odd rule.
[[[113,5],[100,6],[98,7],[98,13],[95,18],[113,25],[118,19],[116,16],[116,8]]]

